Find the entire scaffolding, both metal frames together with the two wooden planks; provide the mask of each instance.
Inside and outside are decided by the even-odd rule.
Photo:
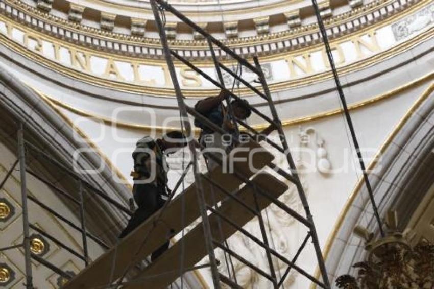
[[[31,143],[26,142],[23,137],[23,128],[21,125],[18,131],[19,157],[14,167],[18,163],[20,164],[24,229],[24,241],[21,246],[25,249],[26,286],[28,288],[33,288],[31,270],[31,259],[33,258],[60,276],[68,279],[69,281],[66,283],[65,288],[117,288],[120,286],[123,288],[164,288],[181,277],[185,272],[202,268],[210,269],[214,288],[220,288],[221,283],[224,283],[231,288],[240,288],[240,285],[237,284],[235,270],[232,269],[231,271],[230,268],[228,268],[228,275],[219,271],[219,260],[216,259],[214,253],[214,250],[219,248],[225,253],[225,256],[227,255],[229,258],[237,259],[257,274],[269,280],[273,288],[283,287],[285,278],[289,276],[289,273],[292,270],[299,272],[319,287],[329,288],[330,283],[326,273],[312,214],[258,58],[254,56],[252,64],[247,59],[238,56],[233,50],[229,49],[222,42],[215,39],[163,0],[151,0],[151,6],[160,34],[164,57],[168,65],[168,70],[171,75],[178,101],[181,127],[185,130],[185,133],[189,138],[188,148],[191,159],[188,165],[184,168],[180,179],[164,206],[151,216],[151,218],[143,222],[132,233],[124,239],[119,240],[115,246],[110,248],[102,242],[102,240],[86,231],[83,188],[86,187],[86,189],[92,190],[96,196],[103,198],[109,204],[113,205],[115,209],[122,211],[126,215],[131,215],[131,210],[126,208],[123,204],[108,197],[100,189],[87,183],[80,175],[71,171],[69,168],[66,168],[61,163],[56,162],[55,159],[38,150],[37,147],[33,146]],[[192,30],[198,32],[204,37],[209,49],[209,51],[207,51],[209,54],[207,55],[213,61],[217,80],[194,64],[190,63],[179,52],[170,48],[170,43],[167,40],[164,28],[165,13],[171,13],[178,17]],[[241,69],[245,67],[245,69],[251,71],[251,73],[257,76],[257,81],[260,85],[252,84],[243,79],[236,73],[236,71],[232,71],[227,65],[225,65],[222,61],[223,59],[234,63],[241,67]],[[225,91],[228,95],[226,98],[228,114],[234,125],[235,132],[225,131],[223,128],[216,126],[205,116],[201,115],[194,108],[189,107],[185,103],[175,70],[174,61],[183,63],[215,85],[215,87]],[[252,128],[245,121],[237,119],[234,116],[231,100],[241,100],[241,98],[233,92],[233,89],[231,90],[225,86],[223,71],[235,82],[243,84],[252,94],[262,98],[268,104],[268,112],[260,111],[254,106],[249,105],[249,108],[257,117],[267,122],[267,127],[262,131]],[[271,114],[271,116],[268,116],[267,113]],[[194,133],[192,132],[190,125],[190,116],[199,119],[202,124],[219,135],[230,134],[233,140],[233,148],[228,152],[228,155],[222,156],[214,153],[206,154],[207,159],[218,163],[217,167],[206,173],[200,172],[198,160],[201,153],[200,150],[198,151],[198,148],[206,150],[206,147],[194,139]],[[242,132],[240,132],[240,130],[242,130]],[[270,137],[273,133],[278,134],[279,141],[275,141]],[[280,167],[273,163],[275,156],[264,149],[260,143],[267,143],[267,145],[273,148],[278,154],[284,156],[286,161],[285,166]],[[56,187],[34,172],[26,170],[26,147],[38,152],[40,155],[44,155],[47,161],[51,161],[55,166],[59,166],[62,170],[67,170],[72,174],[78,181],[77,191],[79,199],[77,200],[76,197],[71,196],[68,192]],[[251,152],[255,153],[251,155]],[[224,168],[229,157],[232,157],[232,159],[249,159],[251,161],[250,165],[253,165],[256,170],[252,170],[252,166],[249,166],[247,161],[244,161],[234,163],[234,170],[226,172]],[[195,176],[195,183],[183,189],[178,196],[175,197],[175,194],[181,187],[181,184],[183,184],[184,178],[189,170],[192,170],[192,173]],[[260,174],[256,172],[257,170],[261,170]],[[305,216],[279,200],[279,197],[287,191],[288,186],[284,182],[280,181],[275,175],[271,174],[271,171],[292,183],[297,188],[298,197],[304,208]],[[74,225],[58,212],[44,205],[32,196],[29,196],[26,190],[26,172],[52,188],[64,198],[78,205],[80,208],[81,225]],[[9,176],[10,174],[7,175],[7,177]],[[54,236],[48,235],[40,230],[38,231],[37,227],[29,224],[27,200],[33,201],[41,208],[55,215],[64,223],[78,230],[82,234],[83,254],[69,248],[58,241]],[[186,203],[188,204],[188,210],[185,210]],[[288,259],[287,256],[280,254],[270,245],[270,236],[267,234],[266,222],[263,220],[262,216],[262,211],[270,204],[274,204],[280,210],[294,218],[308,231],[291,260]],[[179,218],[179,215],[182,215],[181,219]],[[261,234],[260,238],[244,228],[244,226],[254,218],[258,220]],[[154,250],[167,242],[168,239],[183,232],[185,227],[198,219],[200,220],[200,224],[194,227],[187,234],[182,234],[182,237],[157,260],[148,264],[148,266],[144,268],[137,266],[137,264],[142,260],[145,260]],[[29,229],[38,231],[40,234],[49,238],[69,253],[82,259],[86,268],[77,276],[73,277],[57,268],[54,264],[31,253]],[[265,251],[268,268],[258,268],[245,257],[229,248],[226,240],[235,232],[242,233],[245,237],[249,238],[253,243]],[[103,248],[107,249],[105,254],[100,256],[97,260],[94,260],[92,263],[89,263],[87,250],[87,242],[89,238],[93,240],[93,242],[96,242]],[[296,264],[309,240],[315,250],[318,268],[321,272],[321,279],[315,278]],[[10,248],[4,248],[4,250],[8,249]],[[199,261],[206,256],[208,256],[207,263],[198,265]],[[181,262],[179,261],[179,258],[181,259]],[[275,274],[276,268],[274,260],[279,260],[286,266],[284,274],[279,276],[279,278]],[[131,276],[131,270],[133,268],[136,269],[136,274],[133,274],[135,276]],[[126,277],[128,277],[127,280],[125,280]]]

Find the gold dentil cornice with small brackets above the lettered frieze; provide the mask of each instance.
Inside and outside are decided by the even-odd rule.
[[[366,26],[384,20],[385,17],[393,15],[415,1],[418,0],[381,0],[326,19],[325,22],[330,38],[336,38],[345,34],[357,32]],[[132,33],[134,35],[126,35],[107,31],[107,29],[99,30],[97,28],[80,25],[77,23],[81,21],[81,8],[79,7],[71,6],[68,17],[73,21],[68,21],[37,10],[19,0],[8,0],[6,7],[9,5],[11,6],[10,13],[8,13],[7,8],[2,11],[3,13],[17,21],[25,23],[25,25],[33,29],[53,35],[59,39],[76,42],[79,45],[92,47],[92,49],[95,50],[162,59],[162,53],[161,51],[158,51],[161,50],[159,39],[138,37],[137,35],[139,34],[137,33]],[[16,12],[13,13],[15,9]],[[231,47],[239,48],[239,53],[244,57],[249,57],[252,53],[259,55],[278,54],[317,43],[320,39],[318,26],[316,24],[310,24],[295,28],[298,25],[299,17],[297,18],[297,13],[291,13],[286,14],[286,17],[288,19],[288,26],[292,29],[246,38],[236,38],[235,36],[238,33],[236,24],[233,22],[231,23],[230,21],[226,22],[226,33],[228,36],[233,37],[233,39],[224,42]],[[19,17],[20,14],[23,16]],[[137,22],[137,20],[135,21]],[[34,23],[36,23],[36,25]],[[41,24],[39,25],[39,23]],[[176,30],[173,28],[175,24],[170,22],[168,25],[170,25],[167,27],[168,32],[170,32],[172,37],[176,37]],[[202,23],[202,25],[206,26],[206,23]],[[44,29],[40,29],[40,26],[44,27]],[[143,25],[143,34],[144,28]],[[266,27],[262,27],[261,29],[264,28],[266,29]],[[79,41],[75,41],[72,35],[77,35],[76,38]],[[196,39],[201,38],[198,35],[192,37],[196,37]],[[80,39],[88,40],[80,41]],[[191,55],[189,58],[191,59],[202,60],[204,58],[209,58],[208,55],[200,53],[203,50],[207,50],[206,41],[174,39],[171,41],[171,45],[181,51],[195,51],[195,53],[189,53]],[[125,47],[125,49],[122,49],[122,47]],[[150,53],[150,48],[155,48],[157,50],[154,55]],[[218,56],[220,55],[219,52],[219,50],[216,51]]]

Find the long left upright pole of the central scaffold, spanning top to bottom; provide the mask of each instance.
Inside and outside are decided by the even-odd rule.
[[[174,89],[176,92],[176,97],[178,100],[180,116],[181,116],[181,124],[185,128],[186,135],[189,139],[188,147],[190,149],[191,157],[192,157],[193,172],[195,175],[195,181],[196,181],[196,185],[197,185],[198,203],[199,203],[199,209],[200,209],[201,218],[202,218],[202,227],[203,227],[203,231],[204,231],[205,245],[207,248],[210,267],[211,267],[212,280],[213,280],[214,288],[220,289],[219,271],[218,271],[217,262],[215,259],[214,246],[212,243],[212,233],[211,233],[211,228],[209,225],[209,220],[208,220],[208,215],[207,215],[207,210],[206,210],[205,196],[204,196],[204,191],[203,191],[203,186],[202,186],[202,177],[199,174],[199,170],[198,170],[198,157],[197,157],[197,151],[196,151],[196,144],[194,141],[194,134],[191,131],[191,126],[190,126],[190,123],[188,121],[187,109],[186,109],[186,106],[184,103],[184,98],[182,95],[181,87],[178,83],[178,78],[176,75],[175,66],[174,66],[173,61],[172,61],[171,52],[170,52],[170,49],[168,48],[167,37],[166,37],[163,23],[162,23],[161,18],[160,18],[158,5],[155,2],[155,0],[151,0],[151,6],[152,6],[152,11],[154,13],[155,21],[157,23],[158,31],[160,34],[160,40],[161,40],[161,43],[163,46],[164,57],[166,59],[168,70],[170,72],[170,75],[172,78],[172,83],[173,83],[173,86],[174,86]]]

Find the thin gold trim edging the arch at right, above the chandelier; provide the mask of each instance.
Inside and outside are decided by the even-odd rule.
[[[432,76],[432,73],[430,74]],[[434,82],[429,85],[427,89],[421,94],[419,99],[416,100],[416,102],[412,105],[411,108],[408,109],[408,111],[404,114],[404,116],[400,119],[398,124],[395,126],[394,130],[389,134],[387,139],[383,142],[378,152],[373,157],[373,161],[368,165],[367,171],[372,171],[374,167],[377,165],[377,160],[379,159],[379,156],[385,152],[387,148],[389,148],[390,144],[392,143],[392,140],[396,137],[396,135],[399,133],[399,131],[402,129],[402,127],[406,124],[408,119],[413,115],[413,113],[416,112],[416,110],[421,106],[421,104],[429,97],[429,95],[434,92]],[[363,177],[360,177],[357,184],[353,188],[350,197],[348,198],[347,202],[344,205],[344,208],[342,209],[341,213],[339,214],[339,217],[337,218],[337,221],[334,223],[333,230],[331,231],[330,235],[327,238],[326,244],[324,246],[323,250],[323,256],[324,259],[327,259],[328,254],[330,253],[331,246],[333,245],[333,242],[336,238],[337,231],[341,228],[345,216],[347,215],[351,204],[354,202],[355,198],[360,192],[360,188],[363,186],[364,180]],[[320,277],[320,272],[318,267],[315,270],[315,278]],[[312,283],[310,285],[311,289],[316,288],[316,285]]]

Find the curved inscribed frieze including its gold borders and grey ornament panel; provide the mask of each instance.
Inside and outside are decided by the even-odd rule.
[[[417,27],[417,21],[412,19],[415,18],[416,14],[419,17],[421,13],[428,13],[429,9],[434,7],[432,4],[429,6],[429,4],[428,0],[420,1],[393,17],[378,21],[371,26],[365,26],[354,33],[332,39],[331,44],[338,56],[337,64],[340,74],[373,65],[428,39],[432,35],[432,30],[425,29],[425,27],[432,26],[432,20],[429,20],[431,22],[425,21],[424,26]],[[378,15],[380,15],[379,12]],[[378,17],[381,18],[381,16]],[[401,25],[404,22],[405,25]],[[29,30],[26,23],[33,23],[33,26],[38,27],[38,29]],[[2,31],[0,42],[10,47],[13,52],[59,71],[65,76],[120,91],[142,93],[143,87],[147,87],[148,95],[172,96],[174,94],[165,64],[158,59],[162,52],[157,48],[147,48],[146,51],[153,56],[153,59],[147,58],[145,60],[143,60],[144,55],[140,57],[131,52],[137,49],[136,46],[120,44],[119,42],[96,41],[100,44],[103,43],[106,47],[112,47],[112,50],[119,51],[116,54],[103,50],[101,47],[94,49],[91,43],[95,42],[95,39],[76,32],[61,30],[57,26],[32,18],[2,1],[0,1],[0,30]],[[63,38],[59,39],[53,31],[63,35]],[[379,31],[384,31],[387,35],[382,33],[377,36]],[[384,42],[386,38],[389,39],[387,41],[390,43],[383,43],[383,47],[380,47],[379,41]],[[285,40],[284,42],[287,41],[290,43],[289,45],[292,45],[292,40]],[[300,41],[294,40],[294,42],[297,44]],[[267,55],[261,56],[261,62],[267,66],[264,68],[271,73],[268,82],[272,91],[277,92],[330,78],[328,62],[324,57],[323,45],[320,42],[311,45],[306,44],[295,50],[281,50],[281,53],[276,53],[279,51],[278,45],[267,45],[264,46],[268,47]],[[282,45],[280,46],[283,47]],[[271,49],[272,46],[275,50]],[[235,50],[237,53],[247,51],[246,55],[249,55],[247,48],[235,48]],[[355,53],[352,53],[352,50],[355,50]],[[121,53],[121,51],[124,52]],[[196,58],[197,65],[201,69],[208,69],[207,73],[212,75],[213,65],[207,59],[209,51],[177,51],[184,57]],[[251,51],[254,53],[257,50],[252,49]],[[351,59],[354,58],[354,55],[355,59]],[[224,63],[229,67],[231,66],[228,61],[224,61]],[[103,70],[101,70],[101,66],[104,65],[106,68],[102,67]],[[119,65],[123,68],[120,69]],[[148,71],[149,69],[154,69],[152,70],[154,72]],[[188,70],[182,65],[178,66],[177,69],[179,69],[182,88],[185,89],[186,97],[206,97],[215,94],[214,87],[209,84],[206,85],[206,81],[198,77],[194,71]],[[274,75],[277,78],[273,77],[273,70],[276,70]],[[246,73],[248,74],[248,71]],[[230,78],[228,81],[231,81]],[[242,95],[251,94],[244,87],[239,89],[239,93]]]

